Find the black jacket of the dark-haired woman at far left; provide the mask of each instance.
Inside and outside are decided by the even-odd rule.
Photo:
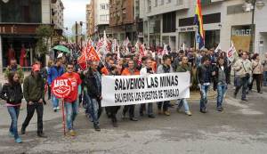
[[[0,98],[9,104],[20,104],[23,98],[21,85],[19,83],[13,85],[4,84]]]

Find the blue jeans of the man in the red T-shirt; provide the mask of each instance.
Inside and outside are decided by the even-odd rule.
[[[67,127],[69,130],[73,129],[73,122],[75,120],[75,118],[77,117],[77,113],[78,113],[78,101],[74,101],[74,102],[64,102],[64,107],[65,107],[65,111],[66,111],[66,115],[67,115]]]

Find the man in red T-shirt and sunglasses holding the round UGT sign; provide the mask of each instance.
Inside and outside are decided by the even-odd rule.
[[[74,72],[74,66],[72,63],[69,63],[67,65],[67,72],[64,73],[61,77],[68,78],[72,85],[69,96],[64,98],[64,108],[67,114],[67,127],[69,134],[71,136],[76,136],[76,132],[73,128],[73,123],[78,113],[78,85],[81,85],[82,80],[80,76],[76,72]]]

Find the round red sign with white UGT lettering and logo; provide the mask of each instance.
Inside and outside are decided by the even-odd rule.
[[[57,77],[53,80],[51,90],[57,98],[66,98],[71,92],[71,82],[68,78]]]

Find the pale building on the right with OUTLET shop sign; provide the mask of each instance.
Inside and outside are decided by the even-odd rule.
[[[255,42],[252,40],[252,11],[246,11],[246,0],[202,0],[202,14],[206,48],[221,44],[223,51],[231,46],[237,50],[266,52],[267,6],[255,7]],[[262,1],[265,5],[267,0]],[[143,38],[148,45],[171,46],[179,50],[184,43],[195,46],[195,0],[144,0],[140,1],[143,20]],[[197,43],[198,46],[198,43]]]

